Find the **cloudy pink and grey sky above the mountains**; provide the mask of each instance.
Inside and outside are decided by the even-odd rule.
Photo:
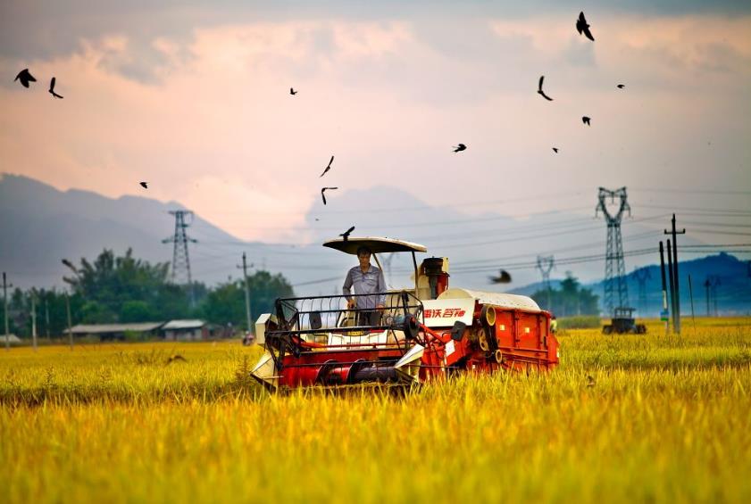
[[[380,186],[470,218],[590,216],[597,187],[628,186],[642,217],[751,219],[748,2],[91,4],[0,5],[0,172],[268,243],[310,243],[313,215]]]

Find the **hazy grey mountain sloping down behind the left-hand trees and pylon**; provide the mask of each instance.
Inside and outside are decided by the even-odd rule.
[[[167,212],[184,209],[179,202],[63,192],[5,174],[0,178],[0,265],[12,273],[14,285],[25,288],[62,285],[68,273],[63,258],[92,259],[105,247],[116,252],[132,247],[138,258],[153,262],[171,260],[171,245],[162,244],[174,232]],[[202,237],[237,240],[198,216],[194,226]]]

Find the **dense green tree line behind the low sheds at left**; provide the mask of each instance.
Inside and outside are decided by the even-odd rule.
[[[63,277],[69,291],[35,287],[26,291],[16,288],[10,293],[8,318],[12,333],[20,337],[31,335],[33,305],[37,334],[63,335],[68,326],[66,296],[72,325],[202,318],[212,324],[247,328],[242,279],[214,287],[200,282],[176,285],[170,281],[169,262],[151,264],[133,257],[131,249],[121,256],[104,249],[93,262],[81,259],[79,265],[68,260],[63,263],[70,269],[70,275]],[[254,318],[270,312],[277,298],[294,296],[292,285],[281,274],[259,270],[248,276],[248,284]]]

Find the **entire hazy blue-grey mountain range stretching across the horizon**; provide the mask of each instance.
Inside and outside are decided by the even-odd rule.
[[[399,237],[449,257],[455,286],[531,294],[541,286],[536,281],[538,255],[555,253],[555,259],[566,264],[561,269],[571,269],[583,285],[602,296],[604,261],[593,254],[604,256],[605,223],[594,219],[593,202],[576,210],[510,217],[493,211],[470,212],[471,204],[466,211],[461,205],[444,205],[444,197],[417,200],[396,186],[351,189],[328,199],[329,205],[316,202],[307,212],[305,226],[296,231],[297,243],[244,241],[195,215],[188,227],[188,235],[197,240],[189,244],[193,278],[208,285],[238,278],[240,256],[247,252],[251,271],[280,272],[295,285],[296,293],[338,293],[354,258],[320,244],[355,225],[353,235]],[[158,202],[145,196],[115,199],[77,189],[60,191],[32,178],[3,174],[0,268],[14,285],[28,288],[63,285],[67,269],[61,260],[93,259],[104,248],[122,253],[131,247],[138,258],[170,261],[172,245],[162,241],[175,232],[169,212],[176,210],[187,209],[180,202]],[[638,281],[634,273],[627,276],[630,303],[649,314],[659,310],[662,295],[659,267],[654,265],[658,256],[650,252],[663,239],[662,229],[655,225],[665,226],[664,216],[624,220],[622,225],[624,249],[634,254],[627,258],[628,269],[647,268],[651,275],[647,302],[640,307]],[[701,243],[690,236],[681,241],[682,245]],[[411,285],[412,260],[402,256],[407,254],[380,258],[392,287]],[[685,273],[694,280],[697,311],[709,275],[719,277],[722,284],[717,287],[720,310],[744,312],[751,305],[751,292],[744,287],[748,283],[743,283],[747,282],[747,265],[736,257],[713,255],[681,261],[680,267],[681,278]],[[498,269],[508,269],[513,283],[489,285],[488,277]],[[560,279],[562,273],[555,269],[553,276]],[[681,305],[688,308],[685,280],[680,289]]]

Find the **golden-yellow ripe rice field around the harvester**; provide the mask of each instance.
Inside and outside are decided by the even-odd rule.
[[[0,351],[0,500],[751,501],[751,319],[559,339],[405,397],[270,396],[238,342]]]

